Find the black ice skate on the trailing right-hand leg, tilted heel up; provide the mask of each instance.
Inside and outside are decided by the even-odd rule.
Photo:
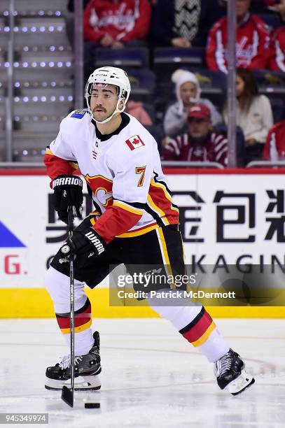
[[[232,395],[240,394],[255,382],[254,378],[246,373],[244,362],[237,352],[229,350],[214,364],[214,373],[221,390],[228,390]]]

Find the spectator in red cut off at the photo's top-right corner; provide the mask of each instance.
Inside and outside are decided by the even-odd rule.
[[[272,9],[280,13],[283,25],[282,27],[277,28],[274,32],[270,57],[270,69],[285,72],[285,0],[281,0],[281,3],[273,6]]]

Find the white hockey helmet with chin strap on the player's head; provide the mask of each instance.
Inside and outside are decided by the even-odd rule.
[[[102,121],[95,120],[95,122],[98,122],[98,123],[106,123],[106,122],[109,122],[109,120],[111,120],[113,115],[115,115],[116,113],[122,113],[125,110],[125,106],[127,104],[127,100],[129,99],[130,92],[131,92],[130,80],[127,77],[127,73],[122,69],[118,69],[117,67],[106,66],[106,67],[100,67],[99,69],[96,69],[95,71],[93,71],[93,73],[90,74],[88,81],[85,85],[85,99],[88,105],[88,111],[92,117],[93,117],[93,114],[90,108],[90,99],[91,99],[93,85],[96,83],[102,83],[104,85],[115,85],[116,87],[118,87],[118,102],[116,105],[116,109],[105,120],[102,120]],[[123,98],[125,98],[123,102],[123,106],[119,108],[120,101]]]

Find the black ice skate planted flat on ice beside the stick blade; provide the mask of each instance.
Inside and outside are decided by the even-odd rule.
[[[101,373],[101,363],[99,355],[99,333],[93,334],[94,345],[87,355],[75,357],[74,362],[74,390],[99,390],[101,383],[99,373]],[[70,386],[70,355],[62,358],[60,363],[46,369],[46,389],[62,390],[62,387]]]

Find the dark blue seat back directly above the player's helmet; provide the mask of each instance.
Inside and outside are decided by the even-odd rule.
[[[118,67],[148,67],[147,48],[97,49],[95,65]]]

